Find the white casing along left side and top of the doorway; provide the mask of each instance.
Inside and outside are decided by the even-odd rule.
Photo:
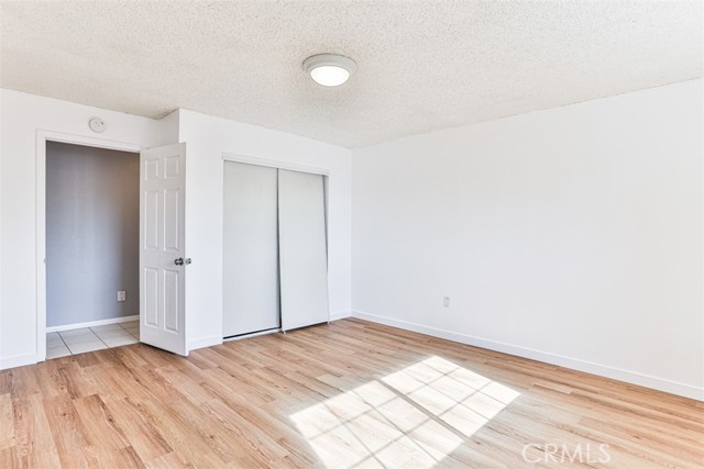
[[[33,362],[46,359],[46,142],[139,153],[142,146],[85,135],[46,130],[36,131],[36,356]],[[141,209],[140,209],[141,210]],[[6,362],[4,360],[2,361]]]

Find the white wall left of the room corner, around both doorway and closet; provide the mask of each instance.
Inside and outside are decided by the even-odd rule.
[[[90,116],[107,123],[88,129]],[[51,131],[152,147],[188,143],[187,334],[191,348],[222,339],[222,154],[314,166],[330,172],[330,306],[350,313],[350,150],[180,110],[162,121],[0,90],[0,369],[35,362],[36,133]]]

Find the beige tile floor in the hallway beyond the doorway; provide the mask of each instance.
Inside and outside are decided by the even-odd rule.
[[[46,359],[140,342],[140,323],[108,324],[46,334]]]

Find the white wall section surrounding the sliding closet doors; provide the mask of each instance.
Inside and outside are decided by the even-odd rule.
[[[223,153],[330,171],[329,288],[333,317],[350,313],[351,152],[263,127],[179,110],[187,143],[186,333],[189,348],[222,342]]]

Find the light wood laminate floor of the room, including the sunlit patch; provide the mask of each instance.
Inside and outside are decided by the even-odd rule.
[[[0,371],[0,468],[701,468],[703,438],[702,402],[360,320]]]

